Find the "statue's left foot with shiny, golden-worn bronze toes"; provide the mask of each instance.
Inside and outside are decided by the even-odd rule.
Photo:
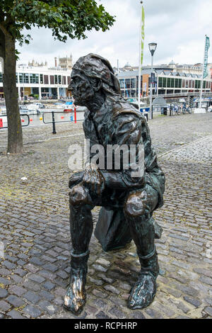
[[[74,315],[80,315],[86,304],[86,270],[71,271],[71,282],[64,296],[64,307],[73,312]]]

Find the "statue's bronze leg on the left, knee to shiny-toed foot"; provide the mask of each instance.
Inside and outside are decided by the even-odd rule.
[[[64,297],[66,310],[79,315],[86,303],[86,275],[88,262],[88,246],[93,232],[91,210],[95,206],[88,188],[78,184],[71,189],[70,197],[70,229],[71,229],[71,272],[70,285]]]

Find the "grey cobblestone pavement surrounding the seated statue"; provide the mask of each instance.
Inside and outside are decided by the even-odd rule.
[[[155,300],[144,310],[129,310],[126,300],[139,272],[134,244],[105,253],[92,237],[80,318],[212,318],[211,116],[149,122],[166,175],[165,205],[154,214],[164,230],[156,242]],[[75,318],[61,305],[69,283],[68,147],[83,142],[82,124],[58,125],[54,136],[51,131],[24,129],[19,156],[4,154],[6,132],[0,132],[0,315],[8,318]]]

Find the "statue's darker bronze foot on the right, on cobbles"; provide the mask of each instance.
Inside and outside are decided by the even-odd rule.
[[[156,293],[156,282],[151,273],[141,273],[129,295],[130,309],[143,309],[153,302]]]

